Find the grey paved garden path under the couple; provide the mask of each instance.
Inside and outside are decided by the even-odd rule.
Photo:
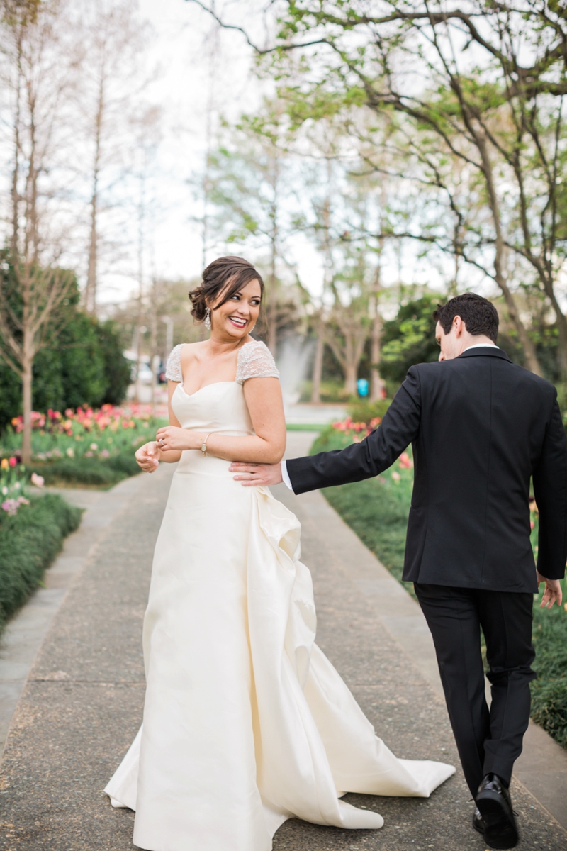
[[[289,435],[290,454],[311,437]],[[142,715],[142,618],[150,565],[173,470],[138,477],[67,591],[31,668],[0,764],[0,848],[127,851],[133,814],[103,788]],[[457,764],[415,604],[318,494],[276,494],[303,524],[303,561],[315,583],[318,643],[400,757]],[[559,763],[554,763],[559,764]],[[543,768],[547,768],[544,766]],[[560,773],[560,772],[559,772]],[[567,849],[567,831],[514,784],[521,848]],[[381,831],[286,822],[275,851],[468,851],[485,848],[470,826],[462,773],[428,800],[349,796],[385,818]],[[187,851],[200,851],[188,844]],[[228,849],[227,849],[228,851]]]

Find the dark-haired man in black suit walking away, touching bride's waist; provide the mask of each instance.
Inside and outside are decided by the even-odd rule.
[[[567,446],[555,388],[496,346],[498,314],[466,293],[434,311],[441,363],[409,369],[362,443],[281,465],[234,464],[245,485],[296,494],[377,476],[409,443],[415,483],[404,580],[414,582],[439,662],[451,726],[490,848],[514,848],[508,786],[530,718],[533,594],[561,603],[567,556]],[[537,570],[530,478],[539,509]],[[490,710],[480,628],[490,666]]]

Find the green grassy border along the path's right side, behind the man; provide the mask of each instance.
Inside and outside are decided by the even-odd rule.
[[[351,437],[331,427],[322,431],[311,448],[316,452],[348,446]],[[400,479],[392,478],[398,472]],[[413,471],[394,464],[382,476],[340,488],[325,488],[323,494],[360,540],[401,581],[404,566],[405,530],[410,510]],[[532,545],[536,549],[537,517]],[[567,605],[567,581],[564,600]],[[413,584],[403,582],[414,597]],[[554,606],[541,609],[541,593],[534,598],[533,642],[537,678],[531,683],[531,717],[567,748],[567,610]]]

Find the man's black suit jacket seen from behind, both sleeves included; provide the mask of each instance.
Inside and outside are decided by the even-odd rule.
[[[490,346],[420,363],[366,440],[287,461],[292,488],[302,494],[377,476],[409,443],[415,483],[405,580],[535,592],[531,476],[537,567],[547,579],[563,578],[567,445],[553,385]]]

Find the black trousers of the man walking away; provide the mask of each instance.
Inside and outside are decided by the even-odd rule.
[[[434,639],[462,770],[473,797],[490,772],[507,784],[530,721],[532,594],[416,582]],[[485,633],[492,701],[485,700],[480,627]]]

